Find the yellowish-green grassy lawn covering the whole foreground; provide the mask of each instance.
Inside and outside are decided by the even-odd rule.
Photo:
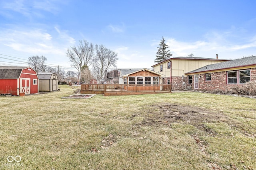
[[[0,97],[0,169],[256,170],[255,99],[189,92],[61,99],[74,89],[60,89]],[[7,161],[17,155],[20,162]]]

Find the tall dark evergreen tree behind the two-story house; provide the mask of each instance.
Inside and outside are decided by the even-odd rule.
[[[164,37],[162,37],[162,40],[159,44],[160,47],[157,47],[158,51],[156,53],[156,59],[155,63],[160,63],[172,56],[170,53],[170,50],[167,49],[169,46],[165,43]]]

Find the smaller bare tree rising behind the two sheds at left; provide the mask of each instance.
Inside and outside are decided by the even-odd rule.
[[[37,73],[46,72],[48,70],[48,66],[45,64],[46,60],[47,58],[44,55],[41,55],[40,57],[38,55],[34,55],[28,57],[28,65]]]

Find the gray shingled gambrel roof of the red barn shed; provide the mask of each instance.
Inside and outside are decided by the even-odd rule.
[[[0,79],[18,79],[22,69],[26,68],[28,67],[0,66]]]

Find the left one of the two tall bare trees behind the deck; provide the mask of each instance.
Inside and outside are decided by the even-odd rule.
[[[86,40],[79,41],[80,44],[67,49],[66,56],[69,58],[72,66],[75,67],[81,77],[83,65],[90,65],[94,56],[94,46]]]

